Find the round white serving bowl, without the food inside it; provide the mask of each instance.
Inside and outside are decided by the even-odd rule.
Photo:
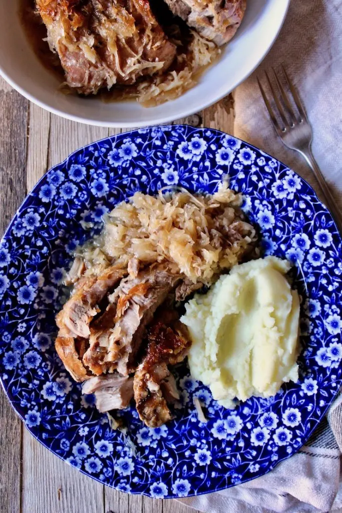
[[[167,123],[208,107],[244,81],[271,48],[289,4],[290,0],[247,0],[242,25],[198,84],[176,100],[144,108],[135,101],[104,103],[63,94],[57,78],[39,62],[27,41],[18,0],[0,0],[0,73],[29,100],[70,120],[120,128]]]

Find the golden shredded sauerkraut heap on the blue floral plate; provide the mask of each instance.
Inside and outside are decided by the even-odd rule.
[[[213,195],[185,189],[136,192],[107,216],[103,232],[77,254],[91,272],[114,262],[167,263],[192,283],[212,283],[250,252],[257,239],[240,210],[242,196],[224,184]]]

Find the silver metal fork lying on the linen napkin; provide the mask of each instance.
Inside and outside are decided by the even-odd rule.
[[[300,98],[298,96],[297,91],[295,90],[284,66],[282,66],[285,80],[287,82],[287,88],[292,94],[292,100],[294,104],[296,105],[298,112],[296,113],[294,109],[292,108],[291,102],[289,100],[289,96],[286,93],[286,90],[283,86],[283,84],[280,82],[278,75],[276,74],[275,70],[272,68],[275,82],[277,84],[278,90],[280,92],[281,100],[279,99],[277,93],[275,92],[275,88],[272,85],[272,82],[270,80],[270,77],[267,72],[266,74],[266,80],[268,82],[270,91],[273,96],[274,103],[277,107],[278,114],[279,114],[279,120],[281,120],[281,123],[279,123],[277,116],[274,112],[274,110],[271,107],[271,104],[267,98],[266,92],[261,85],[259,78],[257,78],[259,88],[261,91],[261,95],[264,98],[265,105],[267,107],[267,110],[270,114],[273,126],[275,128],[276,133],[280,137],[281,141],[287,146],[288,148],[291,148],[291,150],[298,151],[301,155],[304,156],[305,160],[307,161],[308,165],[312,169],[317,182],[323,191],[323,194],[325,196],[326,204],[331,211],[331,213],[334,216],[334,219],[336,223],[338,224],[339,229],[342,228],[342,215],[338,211],[335,200],[333,199],[333,196],[329,190],[329,187],[324,179],[323,174],[321,173],[317,162],[314,159],[314,156],[312,154],[311,150],[311,143],[312,143],[312,128],[310,125],[310,122],[308,120],[308,117],[305,113],[303,104],[300,101]]]

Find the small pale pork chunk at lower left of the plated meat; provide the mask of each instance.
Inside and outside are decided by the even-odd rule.
[[[117,372],[96,376],[84,383],[82,393],[94,393],[98,411],[127,408],[133,397],[133,378]]]

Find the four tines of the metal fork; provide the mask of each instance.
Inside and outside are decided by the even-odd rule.
[[[266,81],[271,92],[271,98],[273,99],[273,102],[276,106],[276,111],[272,108],[271,102],[267,97],[265,89],[261,85],[261,82],[257,77],[261,95],[263,96],[265,105],[270,114],[273,125],[278,133],[284,133],[290,128],[294,127],[296,124],[303,123],[303,121],[307,120],[304,107],[301,104],[300,98],[298,96],[297,91],[295,90],[294,85],[292,84],[289,75],[287,74],[283,65],[281,66],[281,68],[283,69],[283,74],[285,77],[285,87],[283,86],[283,83],[280,81],[279,75],[277,75],[274,68],[272,68],[272,72],[276,87],[272,84],[272,81],[267,71],[265,71]],[[286,90],[288,90],[288,92]],[[299,116],[295,113],[289,96],[293,104],[297,107]],[[279,123],[280,120],[281,123]]]

